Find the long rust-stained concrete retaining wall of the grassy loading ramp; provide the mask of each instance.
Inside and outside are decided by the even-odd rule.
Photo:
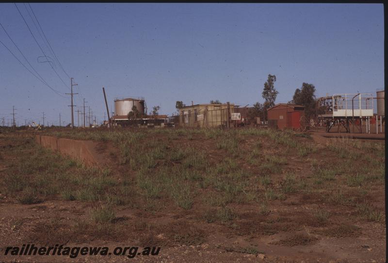
[[[105,164],[104,155],[97,150],[97,143],[93,141],[72,140],[46,135],[35,135],[36,143],[52,151],[67,155],[86,165]]]

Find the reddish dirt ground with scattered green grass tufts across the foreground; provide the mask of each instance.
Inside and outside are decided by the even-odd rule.
[[[0,261],[385,262],[384,141],[354,143],[356,139],[278,133],[276,136],[285,136],[280,140],[254,131],[233,133],[225,141],[224,133],[212,137],[190,130],[174,132],[146,132],[136,141],[153,143],[143,150],[164,149],[162,157],[147,168],[133,165],[130,156],[123,161],[126,149],[117,146],[120,141],[100,140],[90,134],[77,137],[67,131],[40,132],[94,139],[94,150],[109,163],[109,174],[103,176],[108,181],[97,187],[98,197],[94,198],[80,194],[91,181],[72,187],[82,175],[91,180],[100,176],[104,173],[97,171],[100,168],[90,170],[43,149],[34,142],[36,131],[2,131]],[[290,138],[296,146],[289,143]],[[252,154],[254,147],[257,155]],[[190,170],[186,179],[174,177],[167,183],[169,172],[162,174],[164,168],[175,171],[197,156],[186,152],[178,161],[170,157],[185,148],[204,153],[206,167],[195,161],[182,168]],[[208,175],[210,178],[210,173],[224,167],[226,160],[236,165],[225,166],[228,168],[218,172],[219,178],[246,175],[225,179],[231,180],[226,185],[215,177],[208,182]],[[376,164],[380,166],[373,170]],[[193,175],[196,171],[198,177]],[[74,174],[80,176],[74,179]],[[162,188],[142,184],[139,178],[143,174],[163,184]],[[16,177],[21,181],[14,181]],[[241,188],[229,190],[240,182]],[[183,193],[178,197],[173,190],[170,193],[177,184],[187,184],[189,194],[183,190],[177,192]],[[67,187],[79,195],[66,196]],[[28,198],[26,193],[30,193]],[[220,201],[218,197],[224,195],[226,199]],[[126,199],[112,202],[113,197]],[[189,197],[189,205],[179,202]],[[113,219],[101,223],[91,216],[93,209],[108,203]],[[22,244],[109,247],[110,251],[114,247],[156,246],[161,250],[157,256],[132,259],[125,255],[80,255],[75,259],[4,255],[6,247]]]

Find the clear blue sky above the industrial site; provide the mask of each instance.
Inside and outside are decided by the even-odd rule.
[[[45,54],[53,57],[34,26],[28,4],[17,7]],[[175,102],[238,105],[263,102],[268,74],[275,74],[276,102],[292,99],[302,82],[326,93],[375,92],[384,87],[383,4],[154,4],[32,3],[49,43],[83,98],[103,119],[107,92],[142,96],[150,111],[176,111]],[[27,12],[27,10],[29,12]],[[29,13],[31,17],[29,16]],[[68,93],[70,79],[44,62],[15,4],[0,3],[0,23],[33,68],[54,89]],[[37,28],[38,25],[37,25]],[[32,72],[0,27],[2,41]],[[53,59],[53,61],[55,61]],[[0,44],[0,121],[19,125],[70,122],[70,96],[58,96]],[[77,113],[75,112],[75,125]]]

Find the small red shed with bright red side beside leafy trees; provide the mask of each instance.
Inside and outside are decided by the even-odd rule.
[[[268,110],[268,120],[276,120],[277,128],[300,128],[300,119],[305,115],[305,107],[296,104],[278,103]]]

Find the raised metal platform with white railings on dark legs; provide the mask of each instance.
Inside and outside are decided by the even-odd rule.
[[[351,132],[350,124],[358,132],[362,132],[362,122],[366,123],[367,132],[371,130],[373,117],[373,96],[369,93],[334,94],[317,100],[316,124],[325,126],[330,132],[337,126],[337,132],[343,127],[345,132]]]

